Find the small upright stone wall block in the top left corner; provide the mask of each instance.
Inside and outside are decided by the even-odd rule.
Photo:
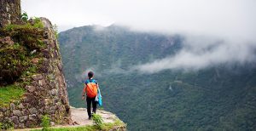
[[[0,27],[20,22],[20,0],[0,0]]]

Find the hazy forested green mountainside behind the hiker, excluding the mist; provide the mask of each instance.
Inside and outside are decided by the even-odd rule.
[[[176,54],[183,37],[84,26],[59,34],[70,104],[80,99],[86,70],[96,72],[104,109],[129,130],[253,130],[256,128],[256,68],[216,65],[201,71],[128,71]]]

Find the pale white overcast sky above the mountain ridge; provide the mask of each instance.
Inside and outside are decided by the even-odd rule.
[[[117,23],[247,40],[256,34],[255,0],[21,0],[21,8],[29,16],[49,18],[60,31]]]

